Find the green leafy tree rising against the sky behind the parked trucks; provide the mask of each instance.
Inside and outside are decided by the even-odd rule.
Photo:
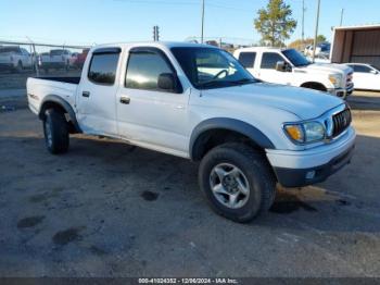
[[[282,46],[296,27],[296,21],[291,17],[292,10],[283,0],[269,0],[266,9],[257,12],[255,28],[262,34],[262,40],[273,47]]]

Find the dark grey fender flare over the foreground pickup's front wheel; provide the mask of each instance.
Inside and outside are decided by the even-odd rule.
[[[275,145],[270,141],[270,139],[253,125],[236,119],[214,117],[201,122],[192,131],[189,145],[190,158],[193,158],[193,147],[199,136],[202,133],[213,128],[233,131],[251,138],[261,148],[275,149]]]

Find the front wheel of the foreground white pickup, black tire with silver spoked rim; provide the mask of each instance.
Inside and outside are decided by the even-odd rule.
[[[223,185],[220,172],[235,173],[228,176],[236,175],[236,181],[240,184],[235,184],[232,179],[232,183],[227,185],[226,183],[230,179],[221,175],[227,186]],[[276,197],[276,178],[266,158],[253,148],[238,142],[216,147],[202,159],[199,168],[199,184],[216,213],[240,223],[249,222],[269,210]],[[231,185],[232,188],[239,185],[232,189],[232,193],[237,188],[245,188],[245,194],[241,190],[237,190],[239,194],[233,194],[238,195],[235,207],[229,205],[232,196],[225,195],[227,189],[231,190]],[[223,190],[219,193],[220,187]],[[212,188],[218,190],[214,191]]]

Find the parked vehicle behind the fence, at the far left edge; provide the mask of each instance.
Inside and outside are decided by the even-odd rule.
[[[0,47],[0,70],[22,72],[33,66],[33,57],[26,49],[16,46]]]

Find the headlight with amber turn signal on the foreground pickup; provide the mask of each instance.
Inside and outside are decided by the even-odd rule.
[[[325,126],[319,122],[286,124],[283,129],[288,137],[297,144],[311,144],[325,138]]]

